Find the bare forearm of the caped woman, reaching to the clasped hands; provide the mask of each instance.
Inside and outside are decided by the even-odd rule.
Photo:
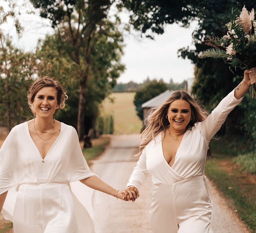
[[[110,185],[106,184],[103,180],[101,180],[96,175],[82,179],[82,180],[80,180],[80,182],[82,182],[83,184],[85,184],[86,186],[88,186],[90,188],[107,193],[114,197],[116,196],[117,190],[114,189],[113,187],[111,187]]]

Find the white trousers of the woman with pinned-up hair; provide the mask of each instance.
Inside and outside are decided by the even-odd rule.
[[[22,184],[14,207],[16,233],[77,233],[77,221],[68,184]]]

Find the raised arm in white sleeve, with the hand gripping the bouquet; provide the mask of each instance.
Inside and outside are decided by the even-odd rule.
[[[251,85],[250,73],[250,70],[244,72],[242,82],[218,104],[206,120],[195,123],[196,128],[201,132],[205,140],[211,140],[225,122],[228,114],[242,101]]]

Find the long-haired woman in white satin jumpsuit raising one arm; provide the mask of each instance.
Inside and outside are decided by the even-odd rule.
[[[248,91],[250,72],[207,118],[184,92],[174,93],[148,117],[140,157],[125,190],[135,200],[147,175],[152,176],[149,223],[154,233],[212,232],[211,194],[204,176],[207,148]]]

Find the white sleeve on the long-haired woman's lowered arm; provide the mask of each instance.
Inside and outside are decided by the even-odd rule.
[[[137,162],[137,166],[134,167],[127,186],[135,186],[137,189],[144,183],[148,176],[148,170],[146,165],[146,148],[142,150],[140,158]]]

